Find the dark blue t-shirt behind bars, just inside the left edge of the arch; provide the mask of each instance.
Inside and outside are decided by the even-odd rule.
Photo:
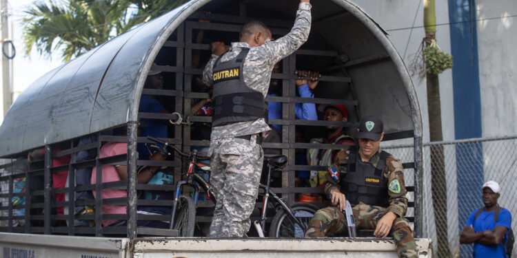
[[[158,100],[142,94],[140,98],[139,112],[160,113],[165,110]],[[140,119],[140,136],[152,136],[154,138],[167,138],[167,125],[156,119],[141,118]],[[145,148],[145,144],[137,144],[136,150],[139,152],[140,158],[148,158],[149,151]]]

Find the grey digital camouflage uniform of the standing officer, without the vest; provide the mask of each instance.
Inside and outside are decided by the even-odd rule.
[[[311,8],[310,3],[300,3],[290,33],[276,41],[268,40],[264,45],[250,48],[243,63],[247,87],[266,96],[274,64],[307,41]],[[232,43],[232,49],[221,58],[221,62],[235,58],[243,47],[250,45],[244,42]],[[212,67],[216,57],[212,55],[203,71],[203,82],[207,85],[213,83]],[[210,237],[243,237],[250,229],[250,215],[255,205],[263,164],[263,150],[256,144],[256,135],[269,130],[264,118],[212,128],[210,187],[217,204],[210,226]],[[253,136],[250,140],[235,138],[247,135]]]

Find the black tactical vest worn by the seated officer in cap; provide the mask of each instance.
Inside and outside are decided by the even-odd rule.
[[[381,151],[377,167],[363,162],[357,147],[350,147],[347,162],[348,171],[341,178],[341,193],[344,193],[352,205],[359,202],[374,206],[389,206],[387,178],[383,176],[386,158],[389,153]]]

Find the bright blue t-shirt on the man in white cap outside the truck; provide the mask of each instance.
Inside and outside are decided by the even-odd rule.
[[[505,255],[505,248],[503,244],[505,244],[505,240],[508,239],[508,233],[509,229],[511,227],[511,214],[510,212],[503,208],[499,212],[499,218],[496,221],[494,220],[494,213],[495,211],[491,212],[485,212],[482,211],[480,215],[476,218],[476,221],[474,222],[474,217],[476,216],[476,213],[478,210],[473,211],[470,213],[469,219],[467,219],[467,223],[465,226],[472,225],[474,227],[474,230],[476,232],[480,232],[483,230],[493,230],[496,226],[504,226],[508,230],[506,231],[505,239],[500,242],[497,246],[485,246],[483,244],[474,243],[474,253],[473,257],[506,257]]]

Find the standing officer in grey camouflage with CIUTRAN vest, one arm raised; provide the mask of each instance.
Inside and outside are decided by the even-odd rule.
[[[270,130],[264,98],[271,72],[309,37],[312,6],[300,1],[291,32],[276,41],[266,25],[250,21],[229,52],[223,43],[212,43],[203,71],[203,83],[214,86],[215,108],[209,153],[217,204],[210,237],[243,237],[250,229],[263,164],[260,135]]]

